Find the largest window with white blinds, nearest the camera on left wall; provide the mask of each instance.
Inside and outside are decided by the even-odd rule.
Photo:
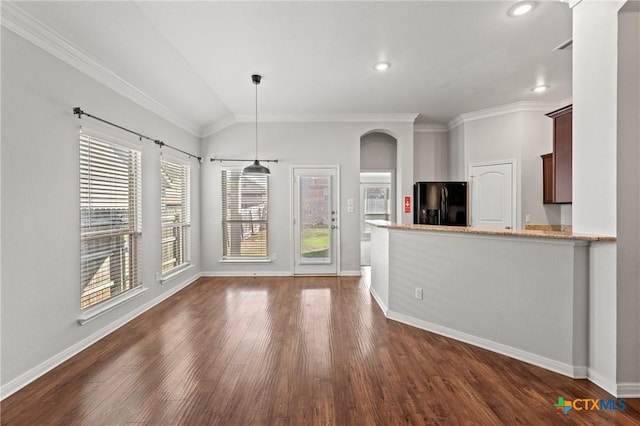
[[[80,306],[141,285],[141,154],[80,135]]]

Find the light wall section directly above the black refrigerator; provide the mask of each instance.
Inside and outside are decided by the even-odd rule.
[[[447,180],[449,170],[447,132],[416,130],[413,138],[413,180],[416,182]]]

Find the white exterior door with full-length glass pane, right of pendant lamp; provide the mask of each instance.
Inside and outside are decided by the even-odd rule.
[[[337,167],[293,168],[293,247],[296,275],[337,275]]]

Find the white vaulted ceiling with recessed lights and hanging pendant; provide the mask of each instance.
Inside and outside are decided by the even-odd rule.
[[[571,97],[571,10],[538,1],[14,3],[206,135],[263,120],[463,113]],[[373,69],[388,61],[385,72]],[[531,89],[550,85],[543,94]]]

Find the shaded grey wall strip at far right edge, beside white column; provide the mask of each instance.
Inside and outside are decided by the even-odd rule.
[[[640,3],[631,6],[618,20],[618,383],[640,383]]]

